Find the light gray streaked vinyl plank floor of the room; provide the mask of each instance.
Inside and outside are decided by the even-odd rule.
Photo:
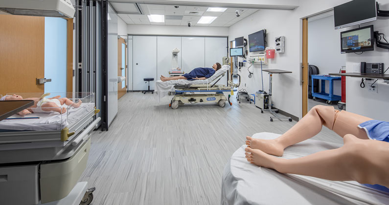
[[[223,169],[245,136],[283,133],[296,122],[270,122],[249,102],[177,110],[156,94],[127,93],[109,131],[94,131],[80,181],[96,187],[92,205],[218,205]],[[327,128],[316,140],[342,143]]]

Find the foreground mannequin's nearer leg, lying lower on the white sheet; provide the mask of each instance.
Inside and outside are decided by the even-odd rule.
[[[354,135],[343,137],[338,149],[317,152],[297,159],[281,159],[259,149],[247,147],[246,158],[252,164],[281,173],[299,174],[333,181],[357,181],[361,184],[389,186],[389,143],[362,140]]]

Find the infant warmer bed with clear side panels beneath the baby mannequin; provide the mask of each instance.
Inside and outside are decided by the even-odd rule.
[[[23,98],[42,93],[18,93]],[[52,93],[73,102],[78,108],[62,105],[67,111],[13,115],[0,121],[1,205],[88,205],[94,188],[79,182],[86,168],[91,132],[100,118],[95,114],[93,93]],[[30,119],[13,119],[30,118]],[[12,120],[13,119],[13,120]],[[80,203],[81,202],[81,203]]]

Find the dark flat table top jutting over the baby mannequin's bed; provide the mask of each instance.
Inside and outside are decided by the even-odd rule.
[[[0,101],[0,121],[32,105],[34,101]]]

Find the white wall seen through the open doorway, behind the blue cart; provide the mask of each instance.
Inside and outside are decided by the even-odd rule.
[[[319,68],[320,75],[339,73],[346,65],[346,55],[341,54],[340,36],[343,29],[334,29],[334,16],[308,22],[308,62]],[[321,83],[319,83],[321,90]],[[342,94],[341,81],[334,82],[334,94]],[[325,92],[329,92],[326,81]]]

